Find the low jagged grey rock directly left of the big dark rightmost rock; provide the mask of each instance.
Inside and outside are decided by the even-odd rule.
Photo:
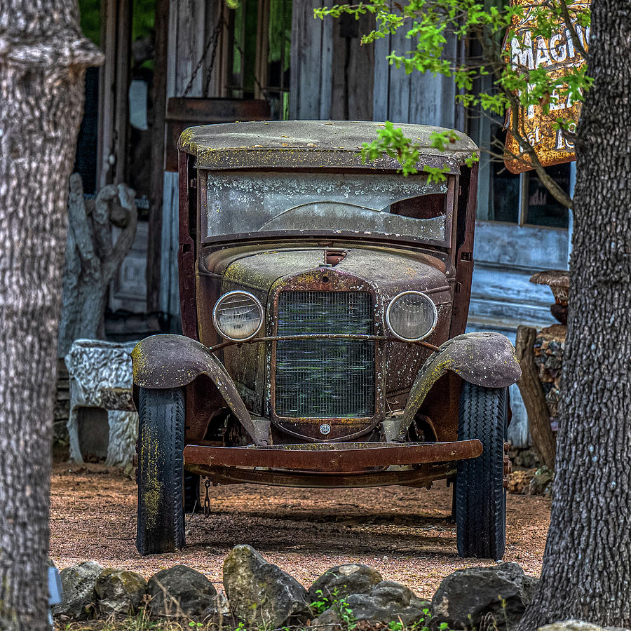
[[[326,625],[323,631],[339,630],[344,626],[344,609],[351,609],[353,618],[388,624],[391,620],[405,627],[424,620],[431,608],[430,602],[416,597],[405,585],[381,581],[369,594],[351,594],[321,613],[313,625]],[[423,611],[424,610],[424,611]]]

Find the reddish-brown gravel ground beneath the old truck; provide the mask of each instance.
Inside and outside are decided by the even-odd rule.
[[[335,491],[233,485],[210,489],[210,517],[186,517],[182,553],[141,557],[135,548],[136,486],[119,470],[57,463],[53,468],[50,557],[63,568],[94,559],[147,578],[177,563],[222,586],[222,563],[249,543],[306,587],[334,565],[360,562],[384,579],[431,597],[455,569],[490,562],[456,554],[452,489],[405,487]],[[548,531],[548,498],[508,496],[504,560],[538,575]]]

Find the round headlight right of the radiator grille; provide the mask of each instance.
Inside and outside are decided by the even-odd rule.
[[[436,327],[436,306],[421,292],[401,292],[388,304],[386,323],[395,337],[403,341],[419,341]]]

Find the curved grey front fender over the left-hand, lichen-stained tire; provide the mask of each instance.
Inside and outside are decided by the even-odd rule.
[[[151,335],[136,344],[131,357],[134,385],[141,388],[182,388],[205,374],[255,445],[264,444],[231,376],[203,344],[184,335]]]

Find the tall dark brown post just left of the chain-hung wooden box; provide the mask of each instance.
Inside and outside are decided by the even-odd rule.
[[[160,257],[162,196],[164,187],[164,135],[167,90],[169,0],[156,1],[156,48],[154,58],[154,123],[151,130],[151,191],[147,243],[147,311],[158,311],[160,302]]]

